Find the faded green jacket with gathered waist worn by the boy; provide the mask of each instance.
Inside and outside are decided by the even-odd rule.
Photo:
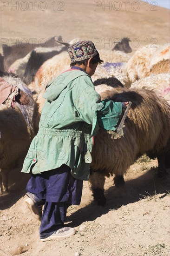
[[[44,97],[39,132],[22,172],[39,174],[66,164],[72,176],[88,180],[92,136],[100,127],[115,130],[122,113],[121,102],[101,102],[91,77],[80,70],[60,74],[48,84]]]

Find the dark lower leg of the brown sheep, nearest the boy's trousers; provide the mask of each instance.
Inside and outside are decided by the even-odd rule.
[[[106,198],[104,195],[105,177],[102,173],[92,171],[89,182],[91,183],[92,195],[98,205],[104,206]]]

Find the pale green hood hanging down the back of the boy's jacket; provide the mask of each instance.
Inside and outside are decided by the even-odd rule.
[[[89,76],[81,70],[70,69],[65,71],[47,84],[43,97],[49,102],[55,101],[70,82],[82,75]]]

